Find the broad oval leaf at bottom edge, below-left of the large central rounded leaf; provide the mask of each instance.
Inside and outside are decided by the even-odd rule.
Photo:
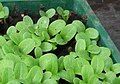
[[[41,80],[43,78],[43,71],[40,67],[34,66],[30,69],[27,77],[26,82],[29,82],[29,84],[40,84]]]

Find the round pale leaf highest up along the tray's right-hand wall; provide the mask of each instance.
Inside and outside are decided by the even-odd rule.
[[[85,33],[90,39],[97,39],[99,37],[99,32],[94,28],[87,28]]]

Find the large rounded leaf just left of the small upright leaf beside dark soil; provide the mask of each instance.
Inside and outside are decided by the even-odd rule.
[[[35,42],[33,39],[27,38],[27,39],[23,40],[18,46],[20,47],[20,50],[24,54],[28,54],[34,49]]]

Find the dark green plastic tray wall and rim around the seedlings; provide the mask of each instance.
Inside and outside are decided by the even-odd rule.
[[[112,51],[112,59],[114,62],[120,63],[120,52],[86,0],[0,0],[0,2],[8,6],[11,11],[16,8],[21,13],[27,10],[30,11],[31,14],[36,14],[43,7],[48,9],[61,6],[77,14],[87,15],[87,25],[96,28],[100,33],[100,44],[110,48]]]

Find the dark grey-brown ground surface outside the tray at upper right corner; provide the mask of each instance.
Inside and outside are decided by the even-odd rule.
[[[120,0],[104,0],[103,3],[88,0],[88,2],[120,51]]]

